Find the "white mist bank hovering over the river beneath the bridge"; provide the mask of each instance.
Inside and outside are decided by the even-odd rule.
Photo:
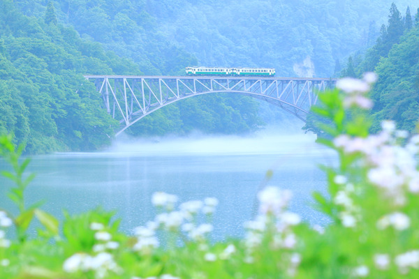
[[[269,126],[251,135],[155,137],[147,140],[118,138],[103,153],[122,156],[220,156],[255,154],[318,155],[327,152],[316,144],[316,135],[296,128]]]

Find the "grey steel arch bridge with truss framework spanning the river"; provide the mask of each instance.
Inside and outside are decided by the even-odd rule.
[[[336,79],[314,77],[164,77],[84,75],[94,81],[104,107],[121,123],[116,136],[159,108],[207,93],[239,93],[277,105],[305,122],[317,92]]]

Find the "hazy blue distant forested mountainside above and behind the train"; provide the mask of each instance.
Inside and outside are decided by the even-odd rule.
[[[60,22],[131,57],[147,75],[184,66],[260,66],[333,75],[335,61],[374,44],[394,0],[60,0]],[[15,0],[27,15],[43,0]],[[406,9],[411,0],[396,1]],[[195,56],[198,61],[193,59]]]

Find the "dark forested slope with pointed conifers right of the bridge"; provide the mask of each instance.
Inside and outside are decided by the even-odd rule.
[[[362,57],[349,57],[342,76],[360,77],[374,70],[378,82],[372,91],[373,130],[385,119],[397,121],[398,128],[416,132],[419,120],[419,10],[401,13],[390,8],[376,44]]]

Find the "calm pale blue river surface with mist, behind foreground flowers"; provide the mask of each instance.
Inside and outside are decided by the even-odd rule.
[[[269,185],[293,190],[291,210],[310,223],[327,223],[311,206],[311,192],[325,192],[325,174],[335,155],[314,143],[314,135],[260,134],[255,137],[172,138],[160,142],[115,144],[101,153],[35,156],[29,167],[37,176],[27,190],[29,203],[62,218],[63,209],[80,213],[96,206],[117,211],[121,229],[130,233],[152,220],[156,191],[175,194],[179,202],[216,197],[214,236],[242,236],[252,217],[254,199],[268,169]],[[1,163],[2,165],[4,163]],[[11,183],[0,179],[0,206]]]

